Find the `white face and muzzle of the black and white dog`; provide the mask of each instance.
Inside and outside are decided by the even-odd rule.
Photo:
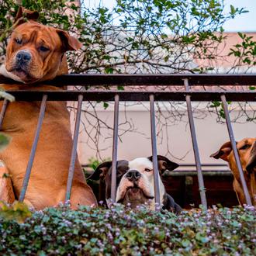
[[[121,200],[131,204],[141,204],[154,199],[153,163],[146,157],[139,157],[128,163],[129,169],[119,182],[116,202]],[[164,198],[164,185],[158,172],[160,198]],[[154,208],[151,203],[150,208]]]

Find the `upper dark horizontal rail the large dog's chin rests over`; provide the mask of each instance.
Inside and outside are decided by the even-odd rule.
[[[256,74],[65,74],[43,84],[184,86],[186,78],[189,85],[256,85]],[[13,85],[13,80],[0,76],[0,84]]]

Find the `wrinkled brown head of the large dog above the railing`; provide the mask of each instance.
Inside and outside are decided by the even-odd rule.
[[[22,19],[22,12],[27,13],[27,22]],[[64,30],[35,22],[36,16],[35,12],[19,9],[16,28],[7,47],[5,69],[11,78],[24,83],[66,74],[64,53],[81,47],[81,43]]]

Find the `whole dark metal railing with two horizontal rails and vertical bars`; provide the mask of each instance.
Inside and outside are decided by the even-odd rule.
[[[13,84],[12,80],[0,77],[0,84]],[[16,82],[17,83],[17,82]],[[158,168],[157,168],[157,137],[155,126],[155,110],[154,102],[157,101],[184,101],[187,104],[189,115],[189,126],[192,137],[192,145],[195,155],[195,165],[199,180],[199,193],[202,205],[207,207],[206,189],[204,187],[202,177],[202,164],[199,157],[199,147],[196,140],[195,124],[192,115],[192,101],[221,101],[223,103],[223,110],[227,121],[227,129],[230,135],[230,141],[234,150],[234,157],[237,162],[237,168],[240,173],[240,180],[244,189],[244,195],[247,205],[251,206],[251,198],[247,189],[247,184],[244,179],[244,172],[240,164],[240,158],[237,152],[236,142],[234,140],[234,133],[230,123],[230,115],[227,108],[227,101],[240,102],[255,102],[256,92],[254,91],[197,91],[190,90],[194,85],[256,85],[255,74],[68,74],[55,78],[53,81],[47,81],[43,84],[64,86],[64,85],[168,85],[168,86],[183,86],[185,91],[181,92],[163,92],[163,91],[146,91],[146,92],[128,92],[104,90],[104,91],[86,91],[86,90],[64,90],[58,91],[29,91],[29,90],[10,90],[16,101],[41,101],[40,114],[36,133],[33,140],[29,162],[26,168],[26,175],[23,180],[22,192],[19,195],[19,201],[23,201],[26,195],[26,188],[29,182],[29,175],[33,166],[33,158],[36,154],[36,145],[40,134],[40,129],[43,123],[43,116],[47,106],[47,101],[78,101],[77,116],[74,127],[74,140],[71,153],[70,168],[67,178],[67,192],[65,199],[70,199],[71,185],[74,175],[74,161],[76,159],[76,151],[78,146],[78,132],[81,119],[81,105],[83,101],[114,101],[114,129],[113,129],[113,144],[112,144],[112,188],[111,198],[116,199],[116,161],[117,161],[117,147],[118,147],[118,123],[119,123],[119,102],[120,101],[147,101],[150,102],[150,127],[151,127],[151,144],[153,154],[154,166],[154,191],[155,202],[160,205],[159,183],[158,183]],[[0,128],[5,116],[5,110],[8,107],[7,100],[4,100],[2,110],[0,113]]]

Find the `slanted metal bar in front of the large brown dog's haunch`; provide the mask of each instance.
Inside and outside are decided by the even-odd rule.
[[[74,125],[74,139],[73,139],[73,147],[71,151],[71,162],[68,169],[67,190],[66,190],[65,201],[71,199],[71,187],[72,187],[72,182],[74,177],[74,164],[77,158],[78,133],[79,133],[80,120],[81,120],[82,103],[83,103],[83,95],[78,95],[78,110],[77,110],[77,116],[76,116],[75,125]]]

